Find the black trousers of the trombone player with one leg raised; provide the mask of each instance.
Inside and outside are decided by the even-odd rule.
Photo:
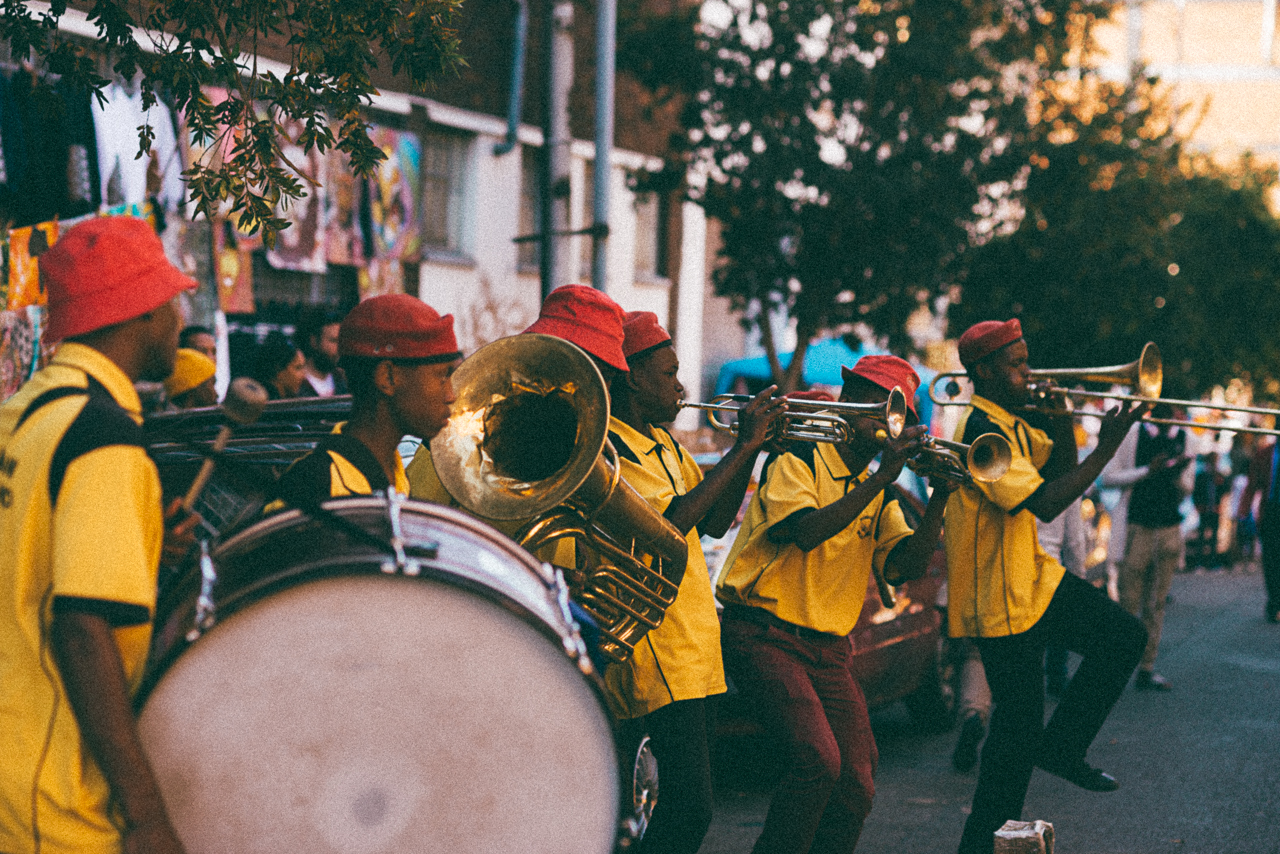
[[[993,834],[1006,821],[1021,819],[1032,768],[1041,755],[1084,758],[1142,658],[1147,630],[1101,590],[1068,572],[1034,626],[977,641],[995,705],[961,854],[991,854]],[[1078,653],[1083,661],[1046,725],[1048,645]]]

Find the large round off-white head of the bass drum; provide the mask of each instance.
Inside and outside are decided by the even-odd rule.
[[[609,725],[561,649],[434,580],[310,581],[233,615],[140,729],[189,854],[604,854]]]

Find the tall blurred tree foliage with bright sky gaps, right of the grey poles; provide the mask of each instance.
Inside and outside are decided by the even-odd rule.
[[[1102,13],[1069,0],[704,3],[695,197],[723,223],[717,291],[796,321],[787,385],[822,329],[861,321],[905,343],[908,315],[955,282],[975,210],[995,210],[1025,163],[1010,143],[1028,96]]]

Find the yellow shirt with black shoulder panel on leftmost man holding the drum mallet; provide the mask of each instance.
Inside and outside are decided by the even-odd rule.
[[[137,689],[164,539],[141,423],[129,378],[74,342],[0,406],[0,850],[10,854],[122,846],[49,626],[60,599],[100,613]]]

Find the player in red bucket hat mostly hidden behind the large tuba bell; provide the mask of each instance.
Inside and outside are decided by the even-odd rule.
[[[595,362],[604,378],[605,388],[612,388],[617,378],[627,373],[627,360],[622,355],[622,307],[604,292],[585,284],[566,284],[550,292],[543,302],[538,320],[525,330],[525,334],[554,335],[577,346]],[[431,461],[431,447],[426,442],[408,465],[408,483],[413,498],[460,507],[440,483],[435,463]],[[484,521],[512,536],[529,520],[485,519]],[[568,539],[558,540],[544,551],[547,554],[541,557],[557,566],[573,565],[573,543]]]

